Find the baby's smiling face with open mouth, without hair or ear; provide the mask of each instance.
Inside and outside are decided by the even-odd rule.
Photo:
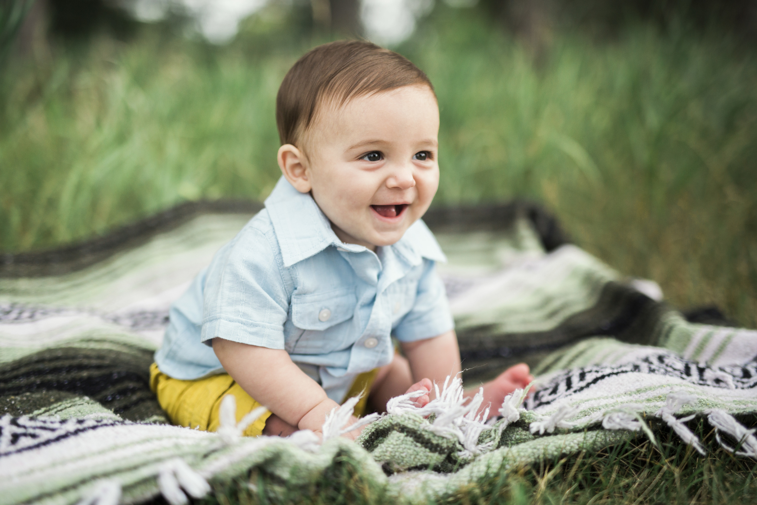
[[[305,175],[342,242],[397,242],[439,184],[439,108],[427,86],[361,96],[322,111],[313,125]],[[299,189],[299,188],[298,188]]]

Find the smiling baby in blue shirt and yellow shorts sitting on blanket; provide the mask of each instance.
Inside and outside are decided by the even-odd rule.
[[[215,431],[232,394],[237,419],[269,409],[245,435],[288,435],[319,432],[363,391],[357,416],[410,391],[428,391],[425,405],[432,382],[460,372],[444,254],[420,220],[439,181],[431,82],[397,53],[332,42],[291,67],[276,122],[283,175],[266,208],[171,307],[151,367],[161,407]],[[484,404],[531,379],[512,366],[484,384]]]

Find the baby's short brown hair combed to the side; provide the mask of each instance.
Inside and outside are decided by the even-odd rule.
[[[394,51],[360,40],[319,45],[289,69],[279,87],[279,139],[282,145],[296,145],[327,101],[341,107],[350,98],[413,85],[434,92],[425,73]]]

